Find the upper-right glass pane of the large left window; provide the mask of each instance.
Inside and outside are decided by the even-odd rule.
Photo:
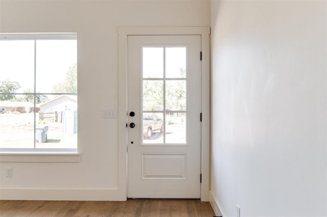
[[[36,92],[77,93],[76,40],[36,41]]]

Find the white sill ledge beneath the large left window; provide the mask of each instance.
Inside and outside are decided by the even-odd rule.
[[[71,152],[0,152],[0,162],[79,162],[80,154]]]

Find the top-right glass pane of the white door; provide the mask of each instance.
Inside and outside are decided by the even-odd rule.
[[[166,77],[186,77],[186,47],[166,48]]]

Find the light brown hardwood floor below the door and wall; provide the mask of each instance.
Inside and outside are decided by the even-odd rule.
[[[0,216],[198,216],[213,217],[208,202],[199,200],[10,201],[0,200]]]

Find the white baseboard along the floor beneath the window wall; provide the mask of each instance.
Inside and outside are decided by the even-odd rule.
[[[117,188],[1,188],[0,200],[125,201],[126,195],[122,195]]]

